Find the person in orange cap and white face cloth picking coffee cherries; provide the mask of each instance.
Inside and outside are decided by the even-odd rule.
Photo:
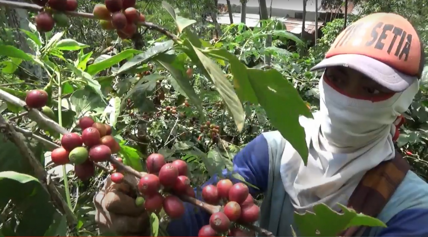
[[[395,157],[394,122],[418,92],[423,65],[420,39],[399,15],[376,13],[346,28],[312,68],[325,71],[320,111],[314,119],[300,119],[309,148],[307,166],[277,131],[258,136],[233,160],[234,172],[259,188],[250,193],[265,194],[261,227],[291,236],[294,211],[318,203],[334,210],[337,203],[347,205],[363,175]],[[213,177],[205,185],[216,181]],[[95,197],[98,223],[120,234],[146,234],[143,210],[120,189],[107,181]],[[186,208],[181,219],[170,222],[170,236],[197,236],[208,223],[207,213],[188,203]],[[363,236],[428,236],[428,184],[407,172],[377,218],[387,227],[369,228]]]

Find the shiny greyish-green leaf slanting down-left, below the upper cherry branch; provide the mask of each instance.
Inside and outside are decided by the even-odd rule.
[[[156,56],[159,53],[163,53],[169,50],[173,44],[174,44],[174,41],[168,40],[168,41],[162,42],[161,44],[150,47],[149,49],[146,50],[146,52],[140,53],[134,56],[134,58],[132,58],[128,62],[125,62],[125,64],[119,68],[119,71],[116,72],[116,74],[122,73],[124,71],[127,71],[130,68],[133,68],[136,65],[140,65],[143,62],[149,61],[153,56]]]

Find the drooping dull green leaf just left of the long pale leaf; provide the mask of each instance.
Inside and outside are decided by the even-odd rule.
[[[187,75],[184,75],[185,69],[183,63],[179,62],[177,56],[172,54],[158,55],[155,60],[158,61],[160,65],[162,65],[166,70],[168,70],[173,77],[169,77],[168,79],[174,89],[192,101],[193,104],[195,104],[198,108],[200,115],[203,116],[204,112],[202,108],[202,101],[196,94],[193,86],[190,84],[190,80]]]

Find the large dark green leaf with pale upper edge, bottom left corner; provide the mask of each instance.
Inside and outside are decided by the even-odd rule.
[[[39,180],[33,176],[13,172],[0,172],[0,198],[12,200],[21,211],[20,222],[16,228],[17,236],[43,236],[48,230],[56,212],[49,194]]]

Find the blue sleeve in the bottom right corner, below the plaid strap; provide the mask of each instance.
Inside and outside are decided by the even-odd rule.
[[[386,223],[378,237],[428,237],[428,209],[406,209]]]

